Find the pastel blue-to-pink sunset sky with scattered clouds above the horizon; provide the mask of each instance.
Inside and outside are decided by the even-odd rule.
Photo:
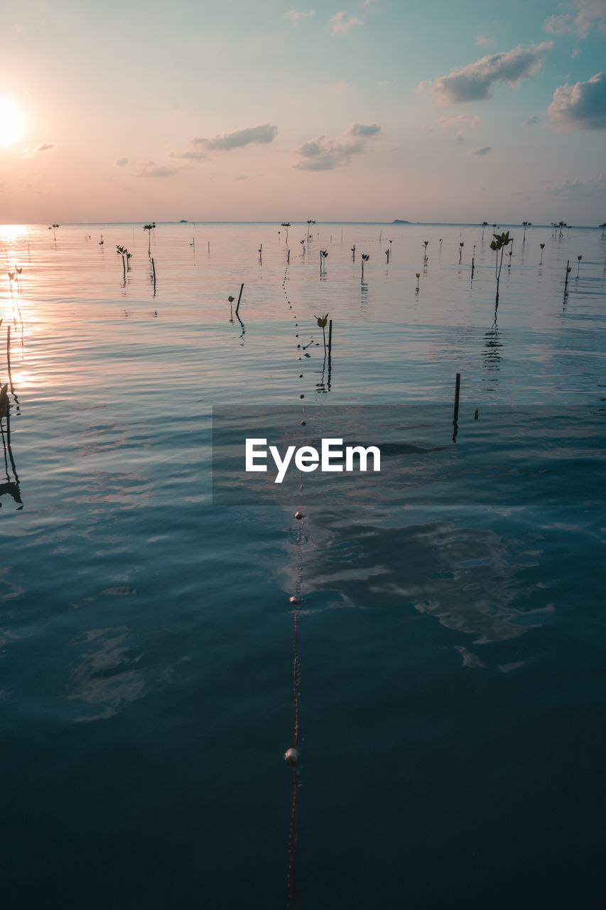
[[[22,0],[0,223],[606,221],[606,0]]]

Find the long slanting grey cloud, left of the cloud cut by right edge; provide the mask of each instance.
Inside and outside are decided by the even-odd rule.
[[[448,107],[467,101],[490,97],[490,89],[500,83],[516,85],[538,73],[543,65],[542,52],[553,46],[551,41],[540,45],[518,45],[506,53],[484,56],[475,63],[452,70],[449,76],[439,76],[435,82],[421,82],[417,91],[432,96]]]

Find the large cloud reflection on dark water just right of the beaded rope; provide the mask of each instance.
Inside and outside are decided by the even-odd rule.
[[[334,591],[342,605],[414,608],[474,644],[517,638],[541,624],[553,604],[523,610],[520,569],[507,540],[486,529],[449,522],[404,528],[315,512],[306,577],[312,591]],[[536,564],[533,561],[531,564]],[[530,617],[530,619],[529,619]]]

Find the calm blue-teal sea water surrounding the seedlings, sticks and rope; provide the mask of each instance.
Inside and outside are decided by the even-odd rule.
[[[490,228],[307,230],[0,228],[7,907],[287,905],[298,560],[302,910],[601,902],[606,240],[511,228],[495,311]],[[389,483],[213,501],[301,394],[407,406]]]

